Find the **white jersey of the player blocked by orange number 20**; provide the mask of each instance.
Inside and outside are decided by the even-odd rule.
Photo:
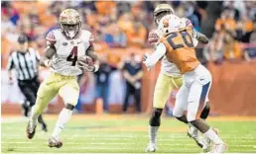
[[[192,27],[192,22],[187,18],[182,18],[180,24],[181,24],[180,28],[184,28],[184,27],[188,27],[188,26]],[[194,46],[196,46],[197,39],[192,38],[192,41],[193,41]],[[180,70],[177,68],[177,66],[173,62],[168,61],[166,56],[164,56],[162,59],[161,73],[168,75],[168,76],[173,76],[173,77],[182,76],[182,74],[181,74]]]

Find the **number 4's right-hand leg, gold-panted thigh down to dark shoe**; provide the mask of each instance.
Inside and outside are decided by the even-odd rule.
[[[79,97],[79,86],[76,79],[69,79],[59,90],[60,96],[64,100],[64,109],[58,117],[56,127],[49,139],[50,147],[60,148],[63,142],[60,140],[60,134],[64,130],[65,124],[69,121],[72,115],[72,110],[77,104]]]

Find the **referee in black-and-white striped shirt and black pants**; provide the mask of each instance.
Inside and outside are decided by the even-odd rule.
[[[18,38],[18,42],[18,50],[12,52],[8,60],[8,77],[12,83],[11,70],[15,69],[18,85],[26,98],[26,101],[22,105],[25,110],[24,115],[28,116],[29,111],[36,103],[37,92],[40,86],[38,79],[40,55],[35,49],[28,47],[28,38],[26,35],[21,35]],[[39,116],[38,121],[42,124],[42,130],[47,131],[47,124],[42,116]]]

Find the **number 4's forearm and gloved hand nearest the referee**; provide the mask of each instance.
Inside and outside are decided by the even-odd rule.
[[[44,67],[49,67],[51,65],[51,59],[56,53],[56,47],[54,45],[48,45],[45,49],[44,55],[40,58],[40,65]]]

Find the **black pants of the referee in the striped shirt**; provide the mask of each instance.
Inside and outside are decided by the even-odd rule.
[[[18,80],[18,85],[26,100],[30,102],[30,108],[32,108],[36,104],[37,93],[40,87],[40,81],[38,77],[35,77],[31,80]],[[39,116],[38,121],[42,124],[43,127],[46,128],[47,125],[42,115]]]

